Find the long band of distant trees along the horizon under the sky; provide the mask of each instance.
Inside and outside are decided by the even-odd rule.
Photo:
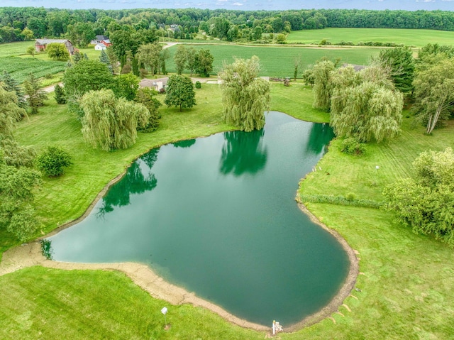
[[[232,11],[226,9],[70,10],[43,7],[0,8],[0,43],[33,38],[70,38],[74,26],[109,35],[109,24],[135,31],[161,30],[172,38],[194,38],[199,30],[225,40],[260,40],[262,33],[289,33],[304,29],[427,28],[454,31],[452,11],[368,11],[320,9],[299,11]],[[89,32],[90,31],[90,32]]]

